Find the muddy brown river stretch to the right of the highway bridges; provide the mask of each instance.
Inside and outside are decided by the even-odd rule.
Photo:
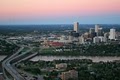
[[[91,59],[93,62],[107,62],[107,61],[114,61],[114,60],[120,60],[120,57],[91,57],[91,56],[36,56],[31,59],[31,61],[39,61],[39,60],[44,60],[44,61],[53,61],[53,60],[68,60],[68,59]]]

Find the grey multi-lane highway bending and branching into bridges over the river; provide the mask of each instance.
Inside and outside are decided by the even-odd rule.
[[[10,79],[6,75],[5,70],[7,70],[7,72],[14,78],[14,80],[26,80],[23,76],[21,76],[18,73],[18,71],[14,67],[14,64],[16,64],[18,62],[21,62],[23,60],[27,60],[27,59],[29,59],[31,57],[34,57],[35,55],[37,55],[37,53],[27,54],[33,49],[33,48],[30,48],[26,52],[23,52],[23,53],[19,54],[23,49],[24,49],[24,47],[21,47],[15,54],[8,57],[7,59],[5,59],[2,62],[3,75],[6,78],[6,80],[10,80]]]

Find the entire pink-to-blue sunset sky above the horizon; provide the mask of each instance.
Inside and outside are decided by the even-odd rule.
[[[0,0],[0,24],[120,24],[120,0]]]

